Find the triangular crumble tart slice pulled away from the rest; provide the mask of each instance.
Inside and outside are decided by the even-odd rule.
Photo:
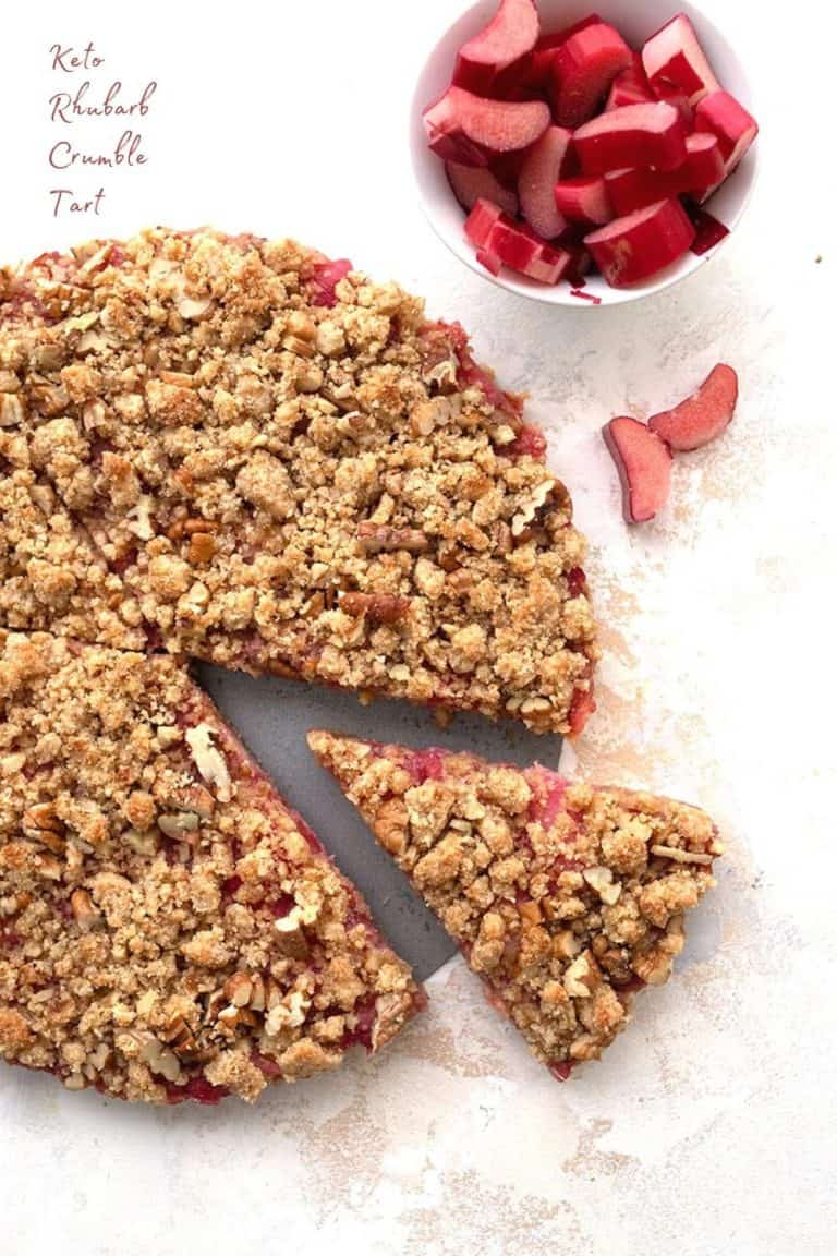
[[[705,813],[537,765],[329,732],[309,744],[557,1078],[669,977],[723,850]]]

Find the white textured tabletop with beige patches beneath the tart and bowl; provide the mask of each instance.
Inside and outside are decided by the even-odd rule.
[[[531,392],[591,540],[606,657],[580,767],[700,801],[729,844],[675,980],[565,1086],[458,962],[380,1059],[256,1110],[134,1110],[4,1073],[10,1256],[833,1251],[833,67],[819,0],[782,23],[754,0],[710,8],[749,58],[755,202],[684,286],[578,313],[489,288],[419,216],[407,100],[456,3],[5,14],[3,259],[212,221],[349,252],[459,318],[502,381]],[[107,173],[98,221],[54,220],[48,48],[90,39],[125,95],[159,83],[139,127],[149,162]],[[98,147],[119,133],[77,129]],[[665,517],[629,531],[601,423],[678,399],[719,358],[740,372],[734,426],[678,463]]]

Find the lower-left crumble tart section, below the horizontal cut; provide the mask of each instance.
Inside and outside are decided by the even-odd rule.
[[[0,632],[0,1055],[73,1090],[252,1102],[422,1002],[176,658]]]

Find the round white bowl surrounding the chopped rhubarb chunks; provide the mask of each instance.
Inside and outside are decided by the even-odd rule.
[[[541,28],[545,31],[560,30],[595,9],[606,21],[612,23],[634,48],[641,48],[649,35],[659,30],[676,13],[685,13],[694,24],[698,39],[722,87],[732,92],[747,109],[755,114],[749,83],[737,53],[718,28],[704,18],[693,4],[688,4],[685,0],[600,0],[600,3],[596,0],[586,0],[586,3],[580,3],[580,0],[537,0],[537,5],[541,14]],[[507,289],[509,293],[520,293],[521,296],[543,301],[545,305],[595,309],[596,303],[572,296],[568,284],[556,284],[555,286],[538,284],[533,279],[527,279],[526,275],[516,274],[507,266],[501,270],[499,275],[491,275],[477,261],[473,245],[466,240],[463,232],[464,211],[450,191],[444,173],[444,163],[427,146],[422,111],[442,95],[450,82],[458,49],[467,39],[482,30],[496,9],[497,0],[479,0],[478,4],[468,9],[442,36],[428,57],[419,77],[412,104],[410,149],[422,205],[430,225],[444,240],[448,249],[483,279],[497,284],[498,288]],[[758,114],[755,116],[758,119]],[[730,232],[738,226],[755,183],[757,149],[758,141],[706,205],[709,212],[719,219]],[[631,288],[610,288],[601,276],[589,276],[584,291],[589,296],[597,296],[601,305],[621,305],[625,301],[635,301],[640,296],[663,291],[663,289],[685,279],[686,275],[693,274],[705,261],[714,257],[723,246],[724,240],[700,256],[688,252],[679,261],[654,275],[648,283],[635,284]]]

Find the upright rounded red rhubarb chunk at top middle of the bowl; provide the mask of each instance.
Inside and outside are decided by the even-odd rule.
[[[557,49],[550,67],[555,121],[577,127],[592,117],[620,70],[631,64],[631,50],[606,21],[585,25]]]

